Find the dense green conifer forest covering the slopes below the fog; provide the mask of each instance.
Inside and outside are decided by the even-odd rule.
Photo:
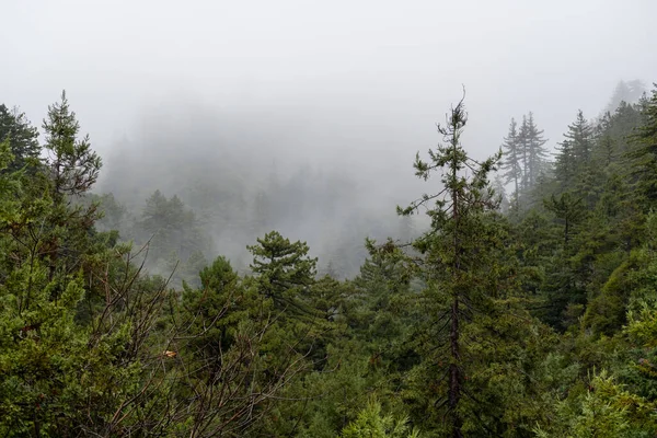
[[[657,436],[657,84],[485,159],[468,99],[399,164],[424,192],[347,215],[229,160],[100,192],[66,92],[0,104],[0,436]]]

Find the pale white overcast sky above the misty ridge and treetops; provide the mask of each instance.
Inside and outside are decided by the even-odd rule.
[[[619,80],[657,80],[654,0],[0,0],[0,102],[41,125],[66,89],[104,155],[162,116],[410,166],[461,84],[483,154],[511,116],[533,111],[553,146]]]

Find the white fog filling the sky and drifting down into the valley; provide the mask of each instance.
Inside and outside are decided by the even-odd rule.
[[[0,0],[0,102],[41,125],[66,89],[104,159],[96,192],[137,212],[160,188],[200,215],[219,196],[192,199],[200,184],[240,197],[231,220],[245,221],[272,181],[324,187],[267,223],[323,256],[338,234],[394,234],[395,205],[428,189],[415,152],[463,85],[475,157],[530,111],[552,147],[619,80],[657,80],[656,13],[650,0]],[[215,255],[253,242],[206,228]]]

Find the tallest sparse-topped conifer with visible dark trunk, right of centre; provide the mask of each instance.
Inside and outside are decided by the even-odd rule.
[[[454,438],[463,437],[464,424],[461,399],[465,394],[466,359],[462,333],[472,309],[485,309],[489,293],[495,293],[486,289],[484,280],[496,240],[495,226],[487,216],[497,208],[487,178],[502,155],[482,163],[470,159],[461,146],[465,123],[461,101],[448,115],[447,126],[438,126],[446,145],[429,150],[429,162],[420,160],[419,154],[416,157],[416,175],[426,181],[435,171],[441,172],[443,188],[435,195],[424,195],[405,209],[397,208],[400,214],[411,215],[427,207],[431,218],[430,231],[416,240],[414,246],[424,254],[427,268],[423,274],[440,303],[439,313],[433,319],[445,331],[438,331],[439,338],[433,343],[446,349],[440,361],[447,364],[447,394],[440,405],[448,408],[450,435]]]

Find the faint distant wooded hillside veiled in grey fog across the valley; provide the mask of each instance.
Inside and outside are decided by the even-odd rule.
[[[100,184],[100,191],[112,195],[111,211],[100,226],[139,243],[154,235],[149,266],[158,273],[171,267],[168,258],[187,263],[191,247],[207,258],[227,255],[244,272],[245,246],[279,230],[308,241],[322,273],[344,278],[354,276],[365,260],[365,238],[407,242],[414,233],[414,219],[401,219],[390,208],[412,193],[410,184],[397,178],[401,169],[378,169],[380,157],[359,163],[359,173],[348,153],[341,169],[335,160],[277,157],[266,142],[231,141],[203,118],[183,126],[159,126],[138,141],[115,145]],[[380,196],[371,196],[374,189]],[[194,233],[185,238],[193,240],[189,247],[172,242],[157,250],[173,228]]]

